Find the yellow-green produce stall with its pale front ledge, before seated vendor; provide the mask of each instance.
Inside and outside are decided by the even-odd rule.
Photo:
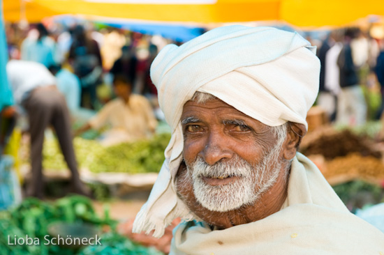
[[[170,134],[163,133],[152,139],[105,147],[96,140],[75,137],[73,144],[80,166],[80,178],[96,192],[105,187],[108,196],[124,196],[134,190],[151,190],[163,164],[164,150],[169,139]],[[22,175],[28,181],[28,141],[22,144],[20,157]],[[43,168],[43,174],[49,180],[68,180],[71,176],[54,137],[47,136],[45,139]],[[101,194],[101,197],[105,195]]]

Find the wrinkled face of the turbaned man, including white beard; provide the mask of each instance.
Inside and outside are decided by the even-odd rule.
[[[281,142],[267,125],[214,99],[186,102],[182,127],[186,178],[208,210],[250,205],[276,182]]]

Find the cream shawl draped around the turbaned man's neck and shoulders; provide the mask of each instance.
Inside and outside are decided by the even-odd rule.
[[[184,254],[383,255],[384,233],[348,212],[318,168],[297,153],[279,212],[220,231],[182,222],[170,255]]]

